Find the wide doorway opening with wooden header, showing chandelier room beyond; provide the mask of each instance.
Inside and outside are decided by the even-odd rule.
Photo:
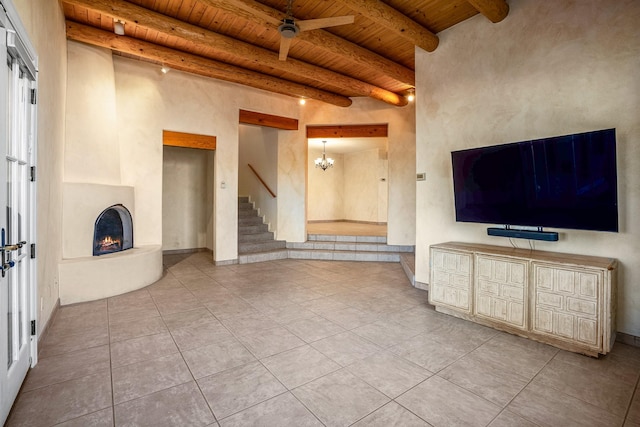
[[[387,125],[307,128],[307,233],[387,235]],[[316,167],[316,159],[334,160]]]

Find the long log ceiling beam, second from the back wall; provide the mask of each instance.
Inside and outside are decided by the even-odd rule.
[[[312,79],[330,85],[343,93],[368,96],[397,106],[408,103],[404,96],[369,83],[295,59],[280,61],[278,54],[270,50],[187,24],[122,0],[65,0],[65,3],[84,7],[125,22],[135,22],[138,28],[158,31],[223,54],[250,59],[262,66],[269,66],[300,78]]]

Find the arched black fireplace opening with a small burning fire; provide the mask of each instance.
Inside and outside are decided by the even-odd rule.
[[[93,228],[93,255],[120,252],[133,247],[133,221],[123,205],[102,211]]]

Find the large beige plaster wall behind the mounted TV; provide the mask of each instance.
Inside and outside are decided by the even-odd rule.
[[[537,249],[620,260],[618,330],[640,335],[640,2],[512,0],[491,24],[478,15],[416,52],[416,280],[444,241],[507,246],[486,225],[456,223],[450,152],[615,127],[619,233],[558,230]],[[521,246],[527,242],[518,240]]]

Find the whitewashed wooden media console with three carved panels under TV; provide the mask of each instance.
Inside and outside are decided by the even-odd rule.
[[[439,312],[594,357],[613,346],[615,259],[442,243],[430,264]]]

